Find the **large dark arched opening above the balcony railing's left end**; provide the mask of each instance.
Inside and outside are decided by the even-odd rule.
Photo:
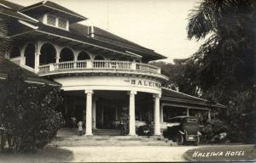
[[[44,43],[42,48],[40,49],[40,64],[39,65],[47,65],[51,63],[55,63],[56,49],[50,43]]]

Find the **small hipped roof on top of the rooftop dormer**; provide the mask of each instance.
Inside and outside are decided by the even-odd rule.
[[[38,14],[38,12],[41,13],[51,13],[54,12],[55,14],[57,13],[63,14],[67,20],[69,20],[71,23],[73,22],[78,22],[82,20],[87,20],[83,15],[77,14],[73,12],[72,10],[65,8],[57,3],[53,3],[50,1],[42,1],[40,3],[35,3],[30,6],[26,6],[25,8],[21,8],[20,12],[24,14]]]

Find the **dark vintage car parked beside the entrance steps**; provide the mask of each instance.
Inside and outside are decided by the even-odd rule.
[[[200,124],[195,116],[176,116],[167,121],[167,130],[171,138],[176,138],[177,143],[200,143]]]

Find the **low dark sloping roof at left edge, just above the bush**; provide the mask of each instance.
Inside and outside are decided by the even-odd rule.
[[[20,68],[19,65],[15,65],[13,62],[7,60],[7,59],[0,59],[0,80],[5,80],[8,76],[8,73],[11,70],[15,70],[17,68]],[[21,70],[26,75],[26,82],[34,83],[34,84],[48,84],[50,86],[57,86],[60,87],[61,84],[57,82],[52,82],[49,80],[44,79],[43,77],[39,77],[35,73],[21,68]]]

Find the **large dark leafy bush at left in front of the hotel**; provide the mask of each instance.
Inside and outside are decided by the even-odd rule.
[[[25,82],[22,70],[9,73],[1,90],[0,123],[16,151],[42,149],[64,124],[55,111],[61,103],[59,89]]]

